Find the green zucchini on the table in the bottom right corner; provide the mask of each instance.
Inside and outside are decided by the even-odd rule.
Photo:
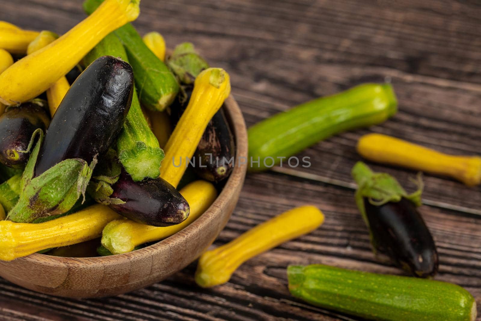
[[[295,297],[368,320],[476,320],[473,296],[452,283],[317,264],[290,266],[287,276]]]

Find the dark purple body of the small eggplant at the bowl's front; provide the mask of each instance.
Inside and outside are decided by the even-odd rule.
[[[110,208],[138,223],[170,226],[189,216],[190,207],[185,198],[161,178],[135,182],[123,169],[112,189],[114,193],[110,197],[125,203],[111,204]]]

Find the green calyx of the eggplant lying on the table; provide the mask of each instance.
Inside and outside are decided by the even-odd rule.
[[[412,194],[406,193],[404,188],[391,175],[375,173],[363,162],[357,162],[351,174],[357,183],[356,204],[366,221],[365,198],[369,203],[376,206],[384,205],[388,202],[399,202],[403,197],[413,202],[416,206],[421,205],[423,182],[420,174],[416,181],[418,190]]]

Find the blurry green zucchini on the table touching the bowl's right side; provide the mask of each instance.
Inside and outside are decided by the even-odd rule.
[[[283,159],[287,165],[292,155],[317,141],[380,124],[396,111],[396,97],[389,84],[363,84],[298,105],[249,128],[250,170],[265,170]],[[299,166],[301,162],[292,163]],[[306,167],[307,163],[301,165]]]

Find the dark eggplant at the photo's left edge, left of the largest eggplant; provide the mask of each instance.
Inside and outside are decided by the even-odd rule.
[[[30,153],[25,153],[33,132],[47,129],[50,116],[47,102],[34,100],[11,106],[0,116],[0,163],[8,167],[22,168]]]

